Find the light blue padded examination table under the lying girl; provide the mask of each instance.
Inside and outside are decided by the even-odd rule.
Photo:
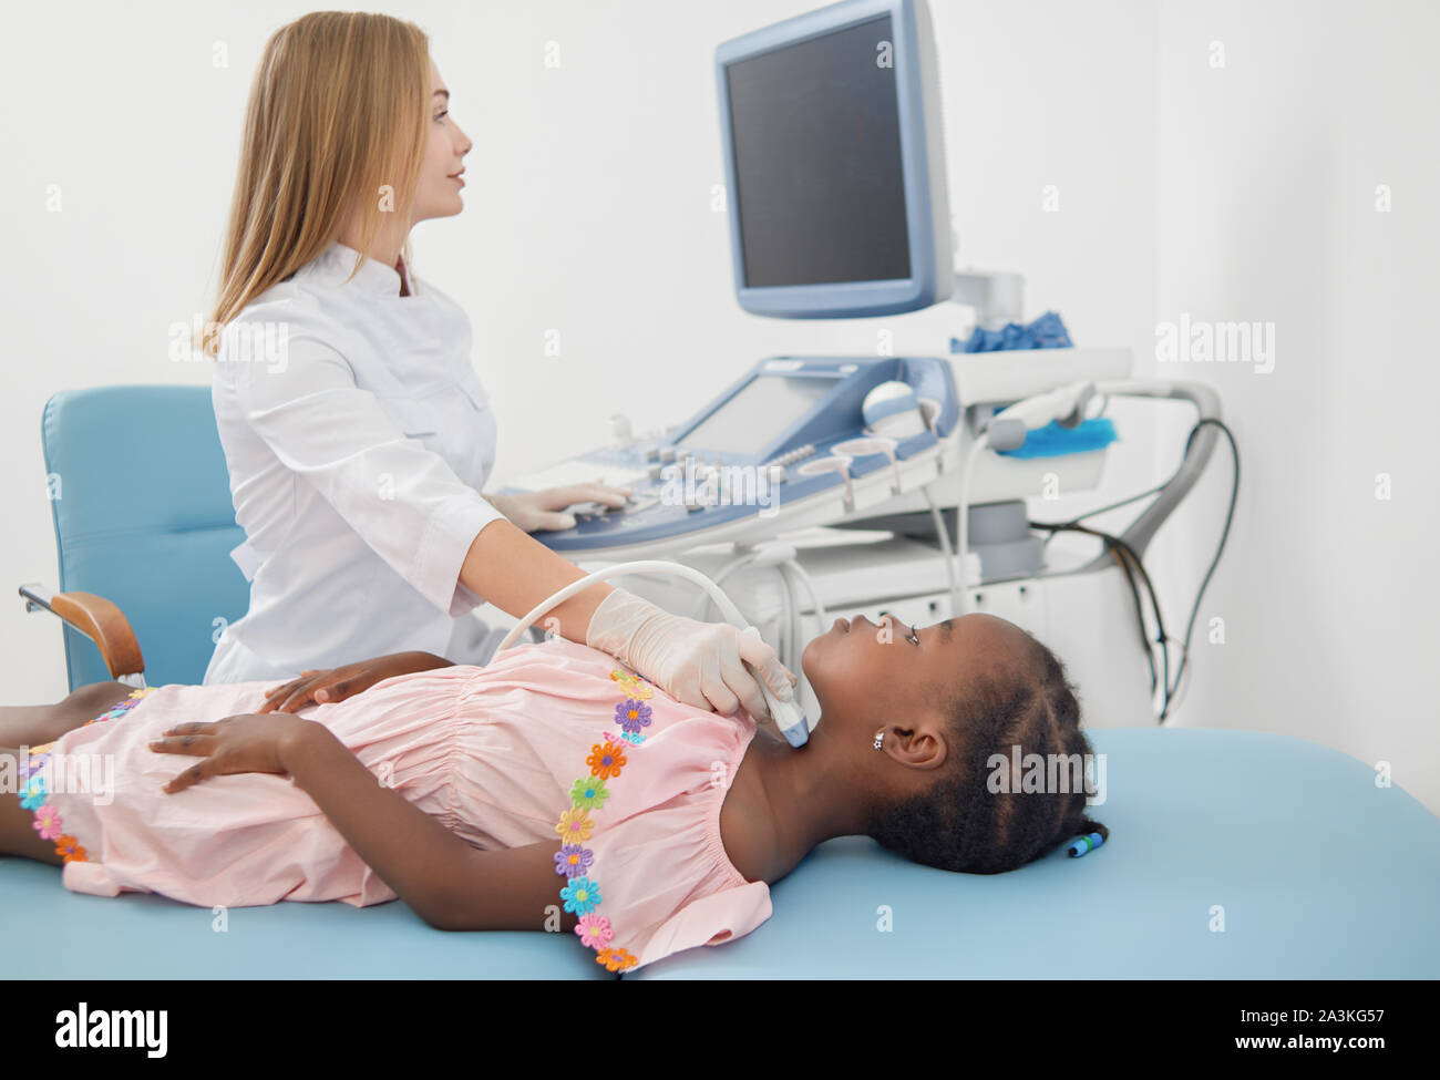
[[[1440,976],[1440,819],[1401,788],[1287,736],[1089,734],[1106,755],[1097,851],[976,876],[834,840],[772,888],[752,935],[625,978]],[[402,901],[226,917],[219,932],[209,909],[82,896],[55,867],[0,860],[6,978],[616,978],[573,935],[432,930]]]

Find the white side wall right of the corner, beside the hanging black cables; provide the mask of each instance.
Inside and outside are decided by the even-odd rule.
[[[1201,638],[1185,721],[1390,762],[1434,811],[1437,46],[1424,1],[1166,4],[1155,307],[1274,324],[1269,374],[1188,372],[1223,395],[1243,472],[1202,611],[1225,644]],[[1227,481],[1211,481],[1162,547],[1185,567],[1165,575],[1176,612],[1217,536]]]

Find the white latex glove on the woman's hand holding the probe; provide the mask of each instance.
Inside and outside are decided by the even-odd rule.
[[[770,720],[760,687],[744,664],[782,701],[795,697],[795,675],[759,634],[744,634],[727,622],[671,615],[625,589],[600,600],[585,644],[628,664],[671,697],[721,716],[744,706],[755,720]]]

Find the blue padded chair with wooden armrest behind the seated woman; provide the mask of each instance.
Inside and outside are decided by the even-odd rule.
[[[249,603],[229,557],[245,533],[209,389],[58,393],[45,406],[42,442],[60,593],[26,586],[24,595],[66,618],[71,690],[141,670],[153,685],[200,683],[217,621],[238,619]]]

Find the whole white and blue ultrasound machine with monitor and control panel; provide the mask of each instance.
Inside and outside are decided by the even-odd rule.
[[[724,42],[716,88],[744,311],[842,320],[953,301],[985,330],[1022,321],[1020,275],[955,264],[923,0],[847,0]],[[590,569],[670,559],[707,573],[796,674],[831,609],[917,625],[986,611],[1067,662],[1094,723],[1153,723],[1168,703],[1146,675],[1132,572],[1093,536],[1063,556],[1080,537],[1031,523],[1031,507],[1047,517],[1047,494],[1100,485],[1112,399],[1218,418],[1210,387],[1135,380],[1132,366],[1123,347],[760,357],[693,416],[642,435],[615,416],[611,445],[503,491],[628,487],[624,507],[572,507],[573,528],[536,539]],[[1197,426],[1179,469],[1117,537],[1136,559],[1215,439]],[[626,588],[713,613],[672,582]],[[801,694],[815,716],[804,680]]]

